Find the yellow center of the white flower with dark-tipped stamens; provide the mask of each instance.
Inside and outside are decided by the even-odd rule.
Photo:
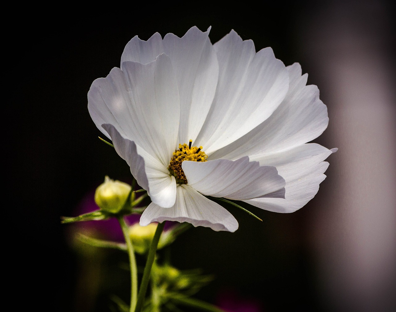
[[[188,143],[179,144],[179,149],[173,152],[173,157],[169,163],[169,172],[176,178],[177,184],[187,184],[187,178],[181,169],[181,163],[185,160],[190,160],[192,162],[206,162],[208,155],[203,152],[202,146],[196,147],[192,146],[192,140]]]

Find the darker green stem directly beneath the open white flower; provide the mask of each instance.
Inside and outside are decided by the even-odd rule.
[[[157,229],[155,230],[155,234],[154,234],[154,237],[151,242],[150,250],[148,251],[147,262],[146,262],[145,270],[143,272],[142,282],[140,284],[139,295],[137,297],[137,304],[136,304],[135,312],[141,312],[141,310],[142,310],[143,302],[144,302],[145,296],[146,296],[148,281],[150,280],[151,267],[152,267],[152,264],[154,263],[157,246],[158,246],[158,241],[160,240],[160,236],[161,236],[162,230],[164,229],[164,225],[165,225],[165,222],[158,223]]]

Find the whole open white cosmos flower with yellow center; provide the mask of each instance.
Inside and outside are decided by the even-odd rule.
[[[327,108],[298,63],[256,53],[234,30],[211,44],[209,30],[135,36],[120,68],[89,89],[91,118],[152,201],[143,226],[234,232],[236,219],[206,196],[293,212],[318,192],[336,150],[307,143],[326,129]]]

